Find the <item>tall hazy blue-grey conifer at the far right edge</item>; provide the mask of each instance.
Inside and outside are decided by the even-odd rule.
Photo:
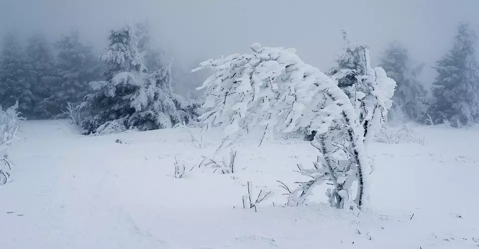
[[[479,121],[479,73],[475,57],[477,36],[466,23],[458,26],[453,48],[436,63],[433,99],[427,113],[435,123],[452,125]]]

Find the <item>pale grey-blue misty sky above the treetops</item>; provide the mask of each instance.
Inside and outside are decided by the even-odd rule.
[[[107,32],[149,20],[159,45],[177,63],[193,67],[219,55],[265,46],[294,47],[321,71],[333,65],[341,29],[370,45],[373,63],[397,39],[430,67],[451,46],[459,21],[479,32],[479,0],[0,0],[0,35],[42,32],[51,41],[72,27],[99,51]],[[198,84],[201,84],[199,82]]]

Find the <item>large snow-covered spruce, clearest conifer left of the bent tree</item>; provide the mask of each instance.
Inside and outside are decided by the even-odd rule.
[[[78,107],[88,112],[81,133],[145,131],[188,123],[192,115],[182,109],[193,109],[194,103],[186,104],[172,93],[170,63],[147,73],[138,38],[129,26],[111,31],[109,41],[102,56],[106,81],[91,82],[94,93]]]

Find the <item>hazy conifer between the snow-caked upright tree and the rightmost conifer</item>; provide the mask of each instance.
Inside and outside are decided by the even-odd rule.
[[[411,66],[409,52],[399,42],[389,44],[380,58],[380,66],[397,86],[393,102],[398,105],[410,120],[417,121],[424,115],[426,90],[417,76],[424,64]]]

